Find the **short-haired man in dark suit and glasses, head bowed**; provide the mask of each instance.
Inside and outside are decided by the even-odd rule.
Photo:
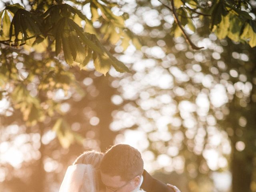
[[[175,186],[154,179],[143,169],[141,154],[135,148],[118,144],[112,146],[100,164],[100,174],[106,192],[180,192]]]

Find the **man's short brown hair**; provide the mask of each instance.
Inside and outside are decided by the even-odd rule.
[[[118,144],[108,149],[102,158],[100,171],[111,176],[121,176],[128,181],[141,175],[143,160],[140,152],[130,145]]]

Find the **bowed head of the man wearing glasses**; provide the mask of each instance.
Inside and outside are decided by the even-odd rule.
[[[143,160],[140,152],[126,144],[112,146],[100,164],[107,192],[130,192],[140,184]]]

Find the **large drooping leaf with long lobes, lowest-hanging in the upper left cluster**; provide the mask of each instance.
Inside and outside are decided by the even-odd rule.
[[[61,27],[55,28],[55,30],[61,31],[61,42],[64,51],[64,57],[68,64],[72,65],[74,61],[80,63],[80,68],[84,68],[90,61],[91,53],[94,52],[95,68],[98,72],[102,72],[106,75],[106,72],[110,69],[110,66],[119,72],[130,72],[129,69],[120,61],[118,61],[92,34],[84,34],[82,28],[80,28],[70,18],[62,18],[59,22],[63,22]],[[56,35],[58,34],[57,31]],[[78,37],[79,36],[79,37]],[[86,49],[92,50],[86,54],[80,39],[86,46]],[[58,41],[58,38],[56,38]],[[61,43],[57,43],[56,50],[59,50]],[[57,52],[58,53],[58,52]],[[86,56],[85,56],[86,55]]]

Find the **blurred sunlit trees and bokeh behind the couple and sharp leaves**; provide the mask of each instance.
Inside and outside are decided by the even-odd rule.
[[[65,2],[93,16],[90,5]],[[111,10],[128,13],[141,49],[135,38],[120,41],[118,28],[102,29],[99,10],[93,26],[132,73],[110,68],[104,76],[92,60],[80,70],[47,48],[1,45],[0,191],[57,192],[83,151],[126,143],[148,172],[182,192],[255,192],[256,48],[217,38],[209,18],[196,17],[196,33],[184,27],[204,49],[192,50],[158,0],[118,3]]]

